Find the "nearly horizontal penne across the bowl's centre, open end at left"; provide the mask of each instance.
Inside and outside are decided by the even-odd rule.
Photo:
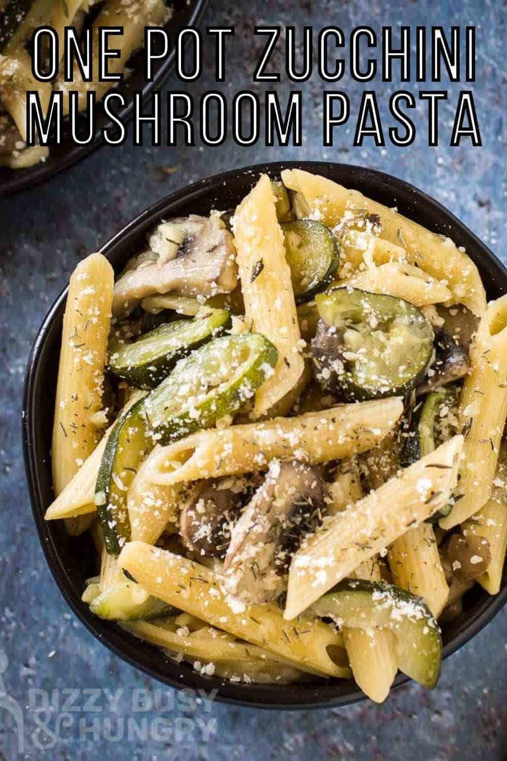
[[[293,418],[201,431],[176,444],[155,447],[146,468],[153,483],[172,486],[266,470],[274,458],[324,463],[370,449],[391,430],[402,411],[402,400],[391,396]]]

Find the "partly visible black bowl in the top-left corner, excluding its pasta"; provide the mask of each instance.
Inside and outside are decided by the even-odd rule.
[[[206,0],[175,0],[175,2],[168,3],[173,8],[173,15],[163,25],[163,28],[170,33],[171,40],[174,40],[175,34],[183,27],[195,27],[205,4]],[[162,50],[160,49],[158,52],[162,53]],[[128,104],[125,108],[118,110],[118,115],[124,123],[132,119],[134,93],[142,91],[143,100],[146,100],[151,91],[160,90],[163,82],[170,75],[174,59],[175,52],[173,48],[170,51],[170,55],[165,59],[155,61],[153,65],[154,78],[151,82],[144,80],[144,58],[142,51],[138,51],[129,59],[128,68],[132,69],[132,74],[116,88],[117,92],[125,95]],[[80,120],[84,122],[84,116],[80,116]],[[75,145],[71,140],[68,123],[65,122],[62,130],[62,142],[60,145],[49,145],[49,157],[46,161],[26,169],[0,167],[0,198],[10,196],[19,190],[43,182],[48,177],[52,177],[53,174],[57,174],[62,169],[75,164],[76,161],[81,161],[92,151],[100,148],[100,145],[103,145],[101,129],[111,124],[111,119],[106,116],[103,108],[99,105],[97,109],[97,129],[92,142],[89,145]]]

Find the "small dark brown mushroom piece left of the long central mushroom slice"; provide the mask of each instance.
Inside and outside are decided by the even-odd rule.
[[[258,473],[201,481],[179,516],[185,547],[201,556],[223,558],[231,527],[261,482]]]

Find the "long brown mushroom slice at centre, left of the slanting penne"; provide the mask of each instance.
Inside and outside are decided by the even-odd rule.
[[[231,531],[223,565],[230,594],[249,603],[274,600],[287,588],[290,559],[325,512],[318,470],[273,460],[268,475]]]

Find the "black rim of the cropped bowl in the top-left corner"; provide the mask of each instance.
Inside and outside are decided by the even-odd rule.
[[[191,13],[189,14],[188,18],[185,18],[185,24],[181,24],[182,27],[194,27],[196,24],[198,24],[198,21],[201,18],[201,14],[204,11],[204,7],[208,0],[191,0],[191,2]],[[184,11],[181,11],[181,14],[184,15]],[[163,24],[163,28],[169,31],[172,30],[171,21],[172,19],[167,21],[166,24]],[[164,81],[166,81],[166,79],[170,76],[175,57],[176,52],[173,48],[170,51],[170,55],[167,56],[166,59],[164,59],[159,64],[154,64],[155,74],[153,81],[145,81],[144,86],[140,88],[142,91],[143,103],[146,102],[151,92],[160,89]],[[132,100],[130,100],[125,108],[119,109],[118,115],[122,118],[124,123],[128,123],[132,119],[132,112],[133,103]],[[109,121],[104,122],[100,120],[100,123],[97,124],[97,131],[95,132],[95,136],[89,145],[74,145],[71,143],[70,137],[65,133],[65,142],[63,142],[59,147],[62,148],[63,145],[67,145],[67,143],[69,143],[69,147],[68,150],[62,154],[60,161],[53,162],[49,159],[49,161],[46,163],[35,164],[33,167],[27,167],[26,169],[20,170],[9,170],[8,167],[0,167],[2,169],[2,180],[0,180],[0,198],[7,198],[8,196],[14,195],[14,193],[20,193],[21,190],[27,189],[28,187],[32,187],[38,183],[43,183],[45,180],[49,180],[49,177],[53,177],[55,174],[59,174],[59,172],[62,170],[68,169],[68,167],[71,167],[72,164],[77,164],[79,161],[83,161],[84,158],[92,154],[94,151],[97,151],[98,148],[103,147],[104,143],[100,129],[103,126],[107,126],[107,124],[111,124],[110,119]],[[120,148],[120,146],[109,147]]]

